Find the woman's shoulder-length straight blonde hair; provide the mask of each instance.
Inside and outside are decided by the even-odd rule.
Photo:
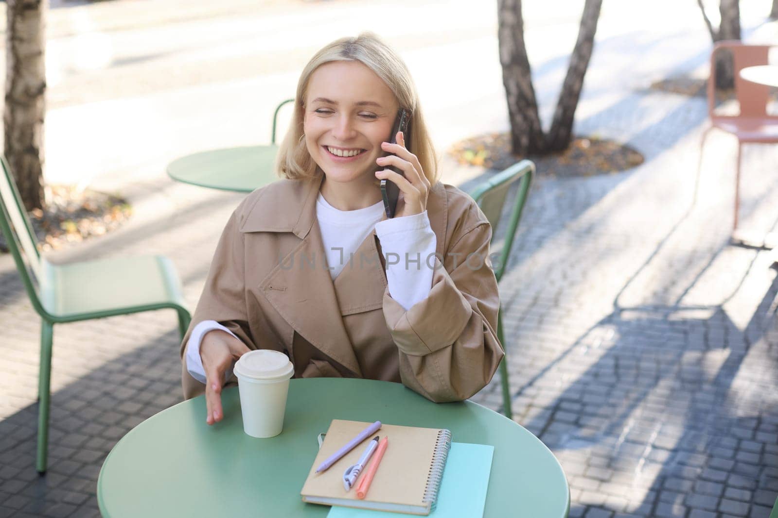
[[[297,82],[292,123],[289,124],[289,130],[275,158],[275,168],[279,176],[288,179],[317,176],[317,165],[308,153],[303,134],[305,97],[310,76],[322,64],[332,61],[359,61],[364,64],[387,84],[400,107],[411,112],[408,131],[410,140],[405,144],[419,158],[419,164],[429,183],[435,184],[438,180],[435,148],[424,123],[421,106],[419,106],[419,94],[416,93],[411,73],[398,54],[373,33],[362,33],[356,38],[335,40],[319,50],[303,68],[300,80]]]

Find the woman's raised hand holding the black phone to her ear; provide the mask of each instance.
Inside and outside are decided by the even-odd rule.
[[[381,144],[381,148],[392,153],[392,155],[379,157],[376,159],[376,162],[384,167],[394,165],[394,167],[404,172],[405,176],[391,169],[383,169],[376,172],[376,178],[393,182],[400,189],[400,197],[397,202],[397,209],[394,211],[394,217],[421,214],[427,209],[429,180],[424,176],[422,165],[419,164],[419,158],[416,158],[416,155],[405,149],[405,136],[401,131],[398,131],[396,141],[397,144],[390,144],[389,142]]]

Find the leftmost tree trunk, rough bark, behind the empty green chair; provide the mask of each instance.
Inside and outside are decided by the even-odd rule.
[[[5,158],[27,210],[43,208],[48,0],[7,0]]]

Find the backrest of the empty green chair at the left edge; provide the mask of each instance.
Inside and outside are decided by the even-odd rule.
[[[39,315],[45,315],[40,304],[40,280],[42,279],[43,262],[38,252],[37,238],[30,218],[27,217],[22,196],[11,175],[11,168],[5,157],[0,156],[2,175],[0,175],[0,230],[5,236],[5,242],[16,262],[16,269],[22,277],[27,295],[33,308]]]

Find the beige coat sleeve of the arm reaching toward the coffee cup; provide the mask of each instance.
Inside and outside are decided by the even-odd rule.
[[[181,381],[186,399],[194,398],[205,390],[205,385],[195,380],[187,371],[185,354],[191,332],[200,322],[215,320],[230,329],[249,349],[257,348],[249,332],[247,318],[244,290],[244,235],[238,230],[239,214],[240,207],[233,212],[219,238],[195,315],[192,316],[189,329],[181,342],[180,356],[183,363]]]

